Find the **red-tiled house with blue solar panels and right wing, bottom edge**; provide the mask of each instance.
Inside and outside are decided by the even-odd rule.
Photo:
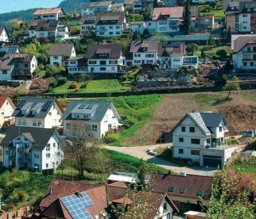
[[[126,195],[128,191],[128,195]],[[127,196],[127,197],[126,197]],[[141,197],[144,199],[141,199]],[[108,197],[108,201],[107,201]],[[84,199],[87,201],[85,202]],[[71,182],[66,180],[53,180],[47,189],[45,198],[40,207],[41,216],[44,218],[116,218],[111,212],[109,201],[117,208],[125,207],[124,218],[132,218],[133,205],[150,205],[151,209],[145,213],[142,208],[136,209],[137,215],[143,215],[145,219],[173,218],[179,212],[177,206],[164,193],[141,191],[134,193],[123,182],[107,184],[106,186],[96,186],[92,184]],[[76,210],[70,209],[76,206]],[[79,208],[80,207],[80,208]],[[80,215],[78,215],[80,214]],[[87,217],[85,217],[85,215]]]

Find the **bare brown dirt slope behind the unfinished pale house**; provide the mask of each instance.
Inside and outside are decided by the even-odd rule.
[[[153,119],[135,132],[125,145],[140,145],[141,136],[146,138],[143,145],[154,144],[162,132],[172,127],[192,111],[213,111],[225,113],[228,120],[228,135],[241,134],[246,129],[256,129],[256,91],[233,91],[231,100],[227,92],[205,92],[191,94],[167,94],[156,106]]]

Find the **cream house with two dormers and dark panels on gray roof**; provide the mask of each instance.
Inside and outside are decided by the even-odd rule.
[[[12,116],[15,126],[51,129],[61,125],[63,108],[57,99],[22,97]]]

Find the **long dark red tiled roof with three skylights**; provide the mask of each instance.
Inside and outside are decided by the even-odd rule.
[[[153,191],[158,193],[167,193],[172,196],[182,196],[190,198],[198,198],[198,190],[204,190],[203,199],[210,199],[211,186],[213,178],[211,176],[201,175],[169,175],[169,174],[152,174],[150,182],[152,182]],[[170,187],[175,187],[174,192],[169,192]],[[186,192],[180,193],[182,187],[186,188]]]

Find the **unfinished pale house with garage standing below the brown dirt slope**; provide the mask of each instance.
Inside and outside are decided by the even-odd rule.
[[[223,167],[235,148],[226,144],[227,121],[222,113],[187,113],[171,130],[173,157],[200,166]]]

